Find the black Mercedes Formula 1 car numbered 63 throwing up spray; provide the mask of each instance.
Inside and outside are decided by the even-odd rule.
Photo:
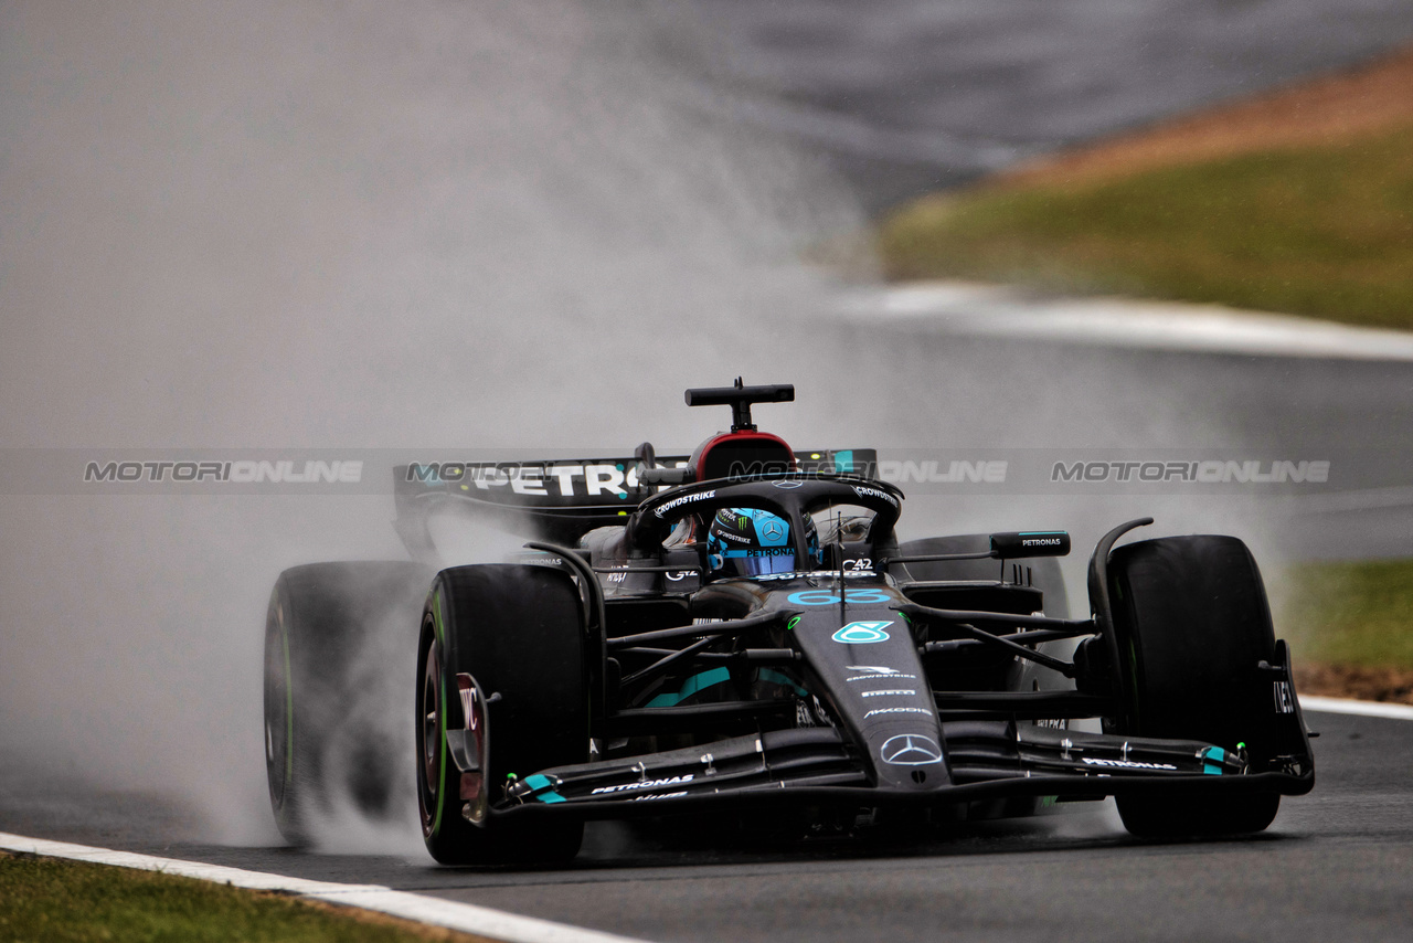
[[[873,451],[797,452],[752,424],[752,404],[793,399],[688,390],[733,418],[690,457],[397,468],[415,561],[297,567],[271,597],[284,834],[309,838],[336,783],[373,806],[396,789],[380,718],[406,707],[374,694],[410,680],[414,642],[406,752],[448,864],[564,861],[589,819],[766,810],[849,828],[1105,796],[1137,836],[1224,836],[1313,787],[1289,650],[1241,540],[1115,547],[1152,520],[1123,523],[1072,619],[1067,533],[900,543],[903,493]],[[458,510],[536,540],[438,571],[430,525]]]

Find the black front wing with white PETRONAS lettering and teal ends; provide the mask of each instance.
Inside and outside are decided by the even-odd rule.
[[[1248,772],[1211,744],[1084,734],[1003,721],[944,724],[945,758],[917,755],[914,787],[879,787],[834,728],[770,731],[704,746],[547,769],[512,780],[492,816],[620,819],[702,806],[947,806],[1009,796],[1101,799],[1121,793],[1303,795],[1306,756]],[[931,776],[928,773],[933,773]]]

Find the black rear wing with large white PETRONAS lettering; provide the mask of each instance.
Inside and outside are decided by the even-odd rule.
[[[794,452],[803,472],[877,478],[872,448]],[[685,468],[688,455],[657,458],[658,468]],[[526,462],[431,462],[393,469],[393,526],[414,558],[434,563],[428,529],[441,513],[480,516],[527,537],[574,544],[595,527],[622,525],[667,485],[637,481],[637,459],[586,458]]]

